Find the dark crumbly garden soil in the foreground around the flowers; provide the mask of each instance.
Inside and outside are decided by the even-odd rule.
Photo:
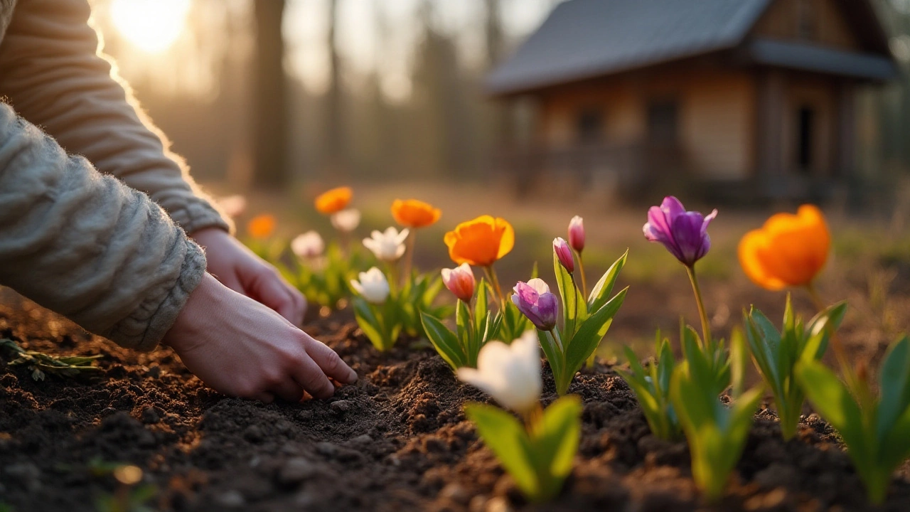
[[[814,416],[784,443],[773,415],[753,427],[727,496],[704,506],[685,443],[649,434],[608,366],[581,374],[581,448],[549,505],[521,498],[465,421],[485,401],[426,347],[376,353],[343,313],[309,333],[360,375],[328,401],[258,404],[205,388],[167,349],[130,353],[25,302],[0,306],[0,337],[48,353],[103,354],[93,380],[48,376],[0,358],[0,508],[95,510],[123,493],[100,463],[145,470],[162,510],[865,510],[834,432]],[[544,401],[555,398],[545,371]],[[895,476],[884,510],[910,509]]]

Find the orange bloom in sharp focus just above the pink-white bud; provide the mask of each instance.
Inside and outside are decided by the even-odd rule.
[[[452,261],[489,267],[512,250],[515,230],[504,219],[481,215],[446,233],[445,242]]]

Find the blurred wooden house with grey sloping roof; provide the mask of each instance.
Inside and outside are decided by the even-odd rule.
[[[896,73],[868,0],[568,0],[487,87],[536,106],[522,180],[806,197],[851,182],[857,91]]]

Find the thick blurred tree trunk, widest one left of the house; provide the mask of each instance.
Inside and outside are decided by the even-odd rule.
[[[334,1],[333,1],[334,3]],[[253,87],[254,184],[276,189],[290,181],[288,98],[281,32],[285,0],[253,2],[256,55]]]

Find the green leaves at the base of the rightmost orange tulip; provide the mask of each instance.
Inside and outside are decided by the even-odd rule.
[[[762,312],[753,308],[745,314],[749,352],[764,384],[774,396],[784,439],[796,434],[803,411],[805,396],[794,374],[796,364],[803,359],[818,361],[822,358],[828,338],[844,319],[844,312],[846,302],[839,302],[818,313],[804,326],[803,320],[794,314],[788,294],[781,332]]]

